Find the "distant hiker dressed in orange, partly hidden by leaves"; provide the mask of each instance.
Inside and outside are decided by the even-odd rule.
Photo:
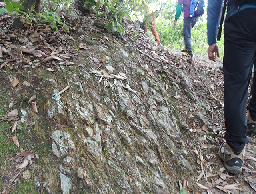
[[[152,32],[152,34],[155,37],[155,42],[159,43],[160,42],[160,38],[158,36],[158,33],[156,31],[156,12],[154,12],[150,6],[148,6],[148,4],[146,4],[145,2],[139,2],[139,5],[141,6],[142,9],[144,10],[144,13],[146,12],[146,17],[144,18],[144,22],[145,22],[145,32],[148,34],[148,27],[150,27],[150,30]],[[138,12],[138,6],[136,6],[136,11],[134,12],[134,15],[132,16],[132,19],[135,18],[135,14]]]

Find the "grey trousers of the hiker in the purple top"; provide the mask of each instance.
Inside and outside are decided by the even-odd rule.
[[[188,50],[188,54],[192,54],[191,31],[194,25],[196,25],[197,21],[198,17],[188,17],[183,19],[182,35],[184,38],[185,47]]]

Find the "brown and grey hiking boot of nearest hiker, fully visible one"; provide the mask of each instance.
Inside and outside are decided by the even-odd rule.
[[[230,148],[226,142],[224,142],[218,151],[220,159],[224,162],[224,167],[227,172],[240,174],[242,172],[242,164],[244,162],[245,146],[239,155],[234,154],[233,150]]]

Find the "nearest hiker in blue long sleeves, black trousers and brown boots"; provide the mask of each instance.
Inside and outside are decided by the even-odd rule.
[[[208,1],[208,57],[216,61],[219,47],[216,43],[219,16],[223,0]],[[256,132],[256,76],[253,78],[252,98],[247,106],[248,86],[256,62],[256,0],[228,0],[224,24],[224,118],[225,140],[218,154],[226,171],[240,174],[248,138],[247,130]],[[254,69],[254,75],[255,75]],[[246,123],[247,122],[247,123]]]

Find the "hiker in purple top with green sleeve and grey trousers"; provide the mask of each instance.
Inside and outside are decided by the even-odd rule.
[[[184,12],[182,35],[184,38],[185,48],[181,52],[183,52],[182,56],[192,58],[193,54],[191,44],[191,31],[192,28],[196,25],[198,17],[190,17],[190,0],[178,0],[178,4],[176,6],[176,14],[173,22],[174,26],[177,26],[177,20],[180,18],[182,10]]]

